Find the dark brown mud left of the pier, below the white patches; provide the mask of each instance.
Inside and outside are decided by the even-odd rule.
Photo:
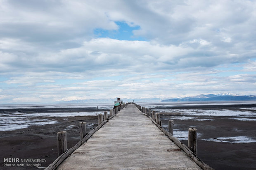
[[[49,117],[40,118],[45,119]],[[60,123],[0,132],[0,169],[37,169],[35,166],[4,167],[4,158],[46,159],[46,162],[40,164],[41,167],[47,167],[58,157],[58,131],[67,131],[67,147],[71,148],[80,140],[79,122],[86,122],[87,133],[98,125],[97,116],[51,117],[51,119]]]

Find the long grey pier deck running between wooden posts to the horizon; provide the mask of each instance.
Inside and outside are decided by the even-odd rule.
[[[201,170],[133,104],[123,108],[58,170]]]

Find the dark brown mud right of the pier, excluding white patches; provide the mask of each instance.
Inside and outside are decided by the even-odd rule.
[[[200,108],[201,109],[201,108]],[[233,107],[234,110],[234,107]],[[164,113],[162,124],[168,130],[168,119],[182,116],[180,114]],[[193,116],[190,116],[193,117]],[[216,170],[255,170],[256,142],[216,142],[204,139],[222,137],[246,136],[256,140],[256,121],[240,121],[228,116],[194,116],[197,119],[214,119],[212,121],[197,121],[191,119],[174,119],[175,131],[188,131],[194,127],[198,133],[198,156]],[[244,118],[244,117],[239,117]],[[249,117],[254,118],[256,117]],[[181,140],[187,145],[187,140]]]

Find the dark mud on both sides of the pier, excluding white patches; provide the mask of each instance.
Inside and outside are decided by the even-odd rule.
[[[146,106],[150,108],[150,106]],[[207,110],[233,110],[254,113],[256,104],[249,105],[207,105],[207,106],[172,106],[157,107],[154,109],[207,109]],[[252,109],[253,108],[253,109]],[[95,110],[95,108],[93,108]],[[1,113],[16,113],[18,116],[29,113],[72,113],[85,112],[87,108],[24,108],[1,109]],[[92,108],[88,108],[92,111]],[[93,110],[93,111],[94,111]],[[101,109],[99,111],[104,111]],[[163,127],[168,129],[168,120],[174,119],[174,136],[179,131],[185,132],[190,127],[197,129],[198,156],[205,163],[216,170],[253,170],[256,167],[256,142],[216,142],[205,139],[244,136],[256,140],[256,121],[241,121],[233,116],[204,116],[192,115],[191,119],[178,119],[184,117],[181,113],[161,113]],[[41,167],[47,167],[57,159],[57,132],[67,131],[68,148],[73,147],[80,140],[79,122],[87,123],[87,132],[95,128],[98,123],[97,115],[50,117],[41,116],[37,119],[50,119],[56,124],[31,125],[24,129],[0,131],[0,166],[5,170],[36,169],[35,167],[3,167],[4,158],[19,159],[46,159]],[[193,118],[193,119],[192,119]],[[256,119],[256,117],[244,116]],[[33,119],[30,117],[29,119]],[[203,121],[202,121],[203,120]],[[11,126],[16,126],[12,124]],[[180,139],[187,145],[187,139]]]

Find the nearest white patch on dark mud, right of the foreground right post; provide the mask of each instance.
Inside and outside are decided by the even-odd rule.
[[[211,138],[211,139],[203,139],[206,141],[213,142],[229,142],[229,143],[252,143],[256,142],[254,138],[249,138],[247,136],[235,136],[235,137],[222,137],[222,138]]]

